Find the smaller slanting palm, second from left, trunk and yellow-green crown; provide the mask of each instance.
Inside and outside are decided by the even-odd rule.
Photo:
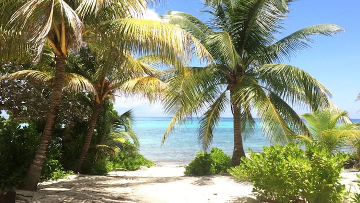
[[[150,54],[134,58],[130,51],[125,49],[122,51],[121,58],[111,60],[112,62],[107,62],[106,65],[103,64],[109,59],[105,56],[109,54],[103,55],[102,52],[102,55],[99,55],[96,51],[90,51],[90,48],[83,49],[81,54],[69,60],[69,66],[72,66],[71,71],[77,71],[84,75],[92,82],[95,89],[93,112],[85,134],[84,144],[76,161],[76,171],[81,170],[103,102],[107,98],[114,100],[116,93],[122,95],[137,94],[148,98],[149,101],[158,99],[162,91],[165,90],[166,84],[158,78],[163,73],[155,68],[156,64],[175,65],[171,64],[172,61],[163,54]]]

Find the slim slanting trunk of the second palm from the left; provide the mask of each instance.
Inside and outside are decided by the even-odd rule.
[[[77,172],[80,172],[82,163],[85,159],[85,155],[90,146],[93,130],[95,128],[96,121],[97,121],[98,115],[100,113],[101,105],[102,105],[102,102],[101,103],[97,103],[96,101],[94,102],[94,109],[92,111],[90,123],[89,123],[89,126],[86,131],[85,141],[84,141],[84,144],[82,145],[80,155],[76,160],[76,171]]]

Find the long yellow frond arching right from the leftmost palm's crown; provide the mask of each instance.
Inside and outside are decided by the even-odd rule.
[[[172,60],[191,60],[193,54],[200,60],[211,60],[211,55],[191,34],[165,22],[148,19],[124,18],[104,22],[96,27],[101,39],[98,43],[125,47],[143,54],[163,54]],[[113,40],[121,38],[122,40]]]

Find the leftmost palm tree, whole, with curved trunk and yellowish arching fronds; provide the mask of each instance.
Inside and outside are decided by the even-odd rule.
[[[65,62],[70,50],[77,51],[83,42],[105,49],[123,48],[137,53],[165,52],[170,59],[188,58],[195,49],[203,58],[206,50],[187,32],[176,26],[152,20],[129,17],[144,10],[147,0],[1,0],[1,59],[19,59],[35,50],[41,56],[49,45],[54,54],[55,77],[50,107],[39,147],[21,188],[36,188],[41,168],[52,138],[63,87]],[[14,11],[14,12],[12,12]],[[8,12],[11,12],[9,14]],[[12,40],[16,39],[16,40]],[[191,44],[194,44],[193,46]],[[29,48],[31,47],[31,48]],[[193,49],[194,48],[194,49]],[[11,52],[11,54],[9,53]],[[113,58],[122,57],[113,52]],[[117,55],[116,55],[117,54]]]

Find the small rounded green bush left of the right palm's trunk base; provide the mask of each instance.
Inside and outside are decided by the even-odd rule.
[[[186,166],[187,175],[209,175],[227,172],[231,166],[231,158],[219,148],[211,148],[210,153],[199,152]]]

